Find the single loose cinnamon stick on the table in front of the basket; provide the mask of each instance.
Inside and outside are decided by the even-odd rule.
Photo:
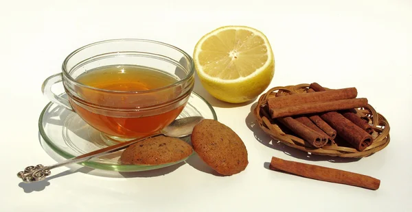
[[[304,176],[319,181],[327,181],[330,183],[340,183],[344,185],[353,185],[366,189],[376,190],[380,186],[380,180],[363,174],[336,170],[334,168],[326,168],[319,165],[310,165],[295,161],[286,161],[277,157],[272,157],[271,170],[282,171],[289,174]]]

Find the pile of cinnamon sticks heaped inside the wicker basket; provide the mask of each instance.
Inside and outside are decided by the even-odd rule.
[[[366,107],[367,98],[356,98],[356,88],[325,90],[310,84],[306,93],[278,92],[268,98],[271,118],[278,120],[311,146],[334,144],[336,136],[359,151],[373,142],[371,125],[356,115],[355,108]]]

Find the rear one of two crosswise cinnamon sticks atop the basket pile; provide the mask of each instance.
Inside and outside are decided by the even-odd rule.
[[[279,92],[278,92],[279,93]],[[305,103],[317,103],[342,99],[356,98],[358,91],[356,88],[343,88],[337,90],[327,90],[325,92],[308,92],[293,95],[282,95],[276,98],[269,98],[268,105],[271,108],[289,107]]]

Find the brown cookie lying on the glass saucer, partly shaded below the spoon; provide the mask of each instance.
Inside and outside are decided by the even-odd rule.
[[[122,164],[160,165],[192,155],[192,146],[174,137],[151,137],[126,148],[120,157]]]

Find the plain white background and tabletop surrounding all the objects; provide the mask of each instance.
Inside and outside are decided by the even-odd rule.
[[[0,25],[0,211],[412,211],[410,0],[1,1]],[[225,104],[197,84],[220,122],[244,140],[244,172],[221,177],[183,164],[167,174],[107,177],[59,168],[53,173],[64,176],[20,183],[15,174],[27,165],[55,163],[38,142],[38,116],[49,102],[41,83],[60,72],[71,51],[99,40],[148,38],[192,54],[203,34],[222,25],[266,34],[276,61],[271,87],[317,81],[358,88],[389,120],[389,146],[335,162],[271,148],[255,138],[270,141],[253,126],[255,101]],[[264,165],[272,156],[367,174],[381,186],[371,191],[273,172]]]

